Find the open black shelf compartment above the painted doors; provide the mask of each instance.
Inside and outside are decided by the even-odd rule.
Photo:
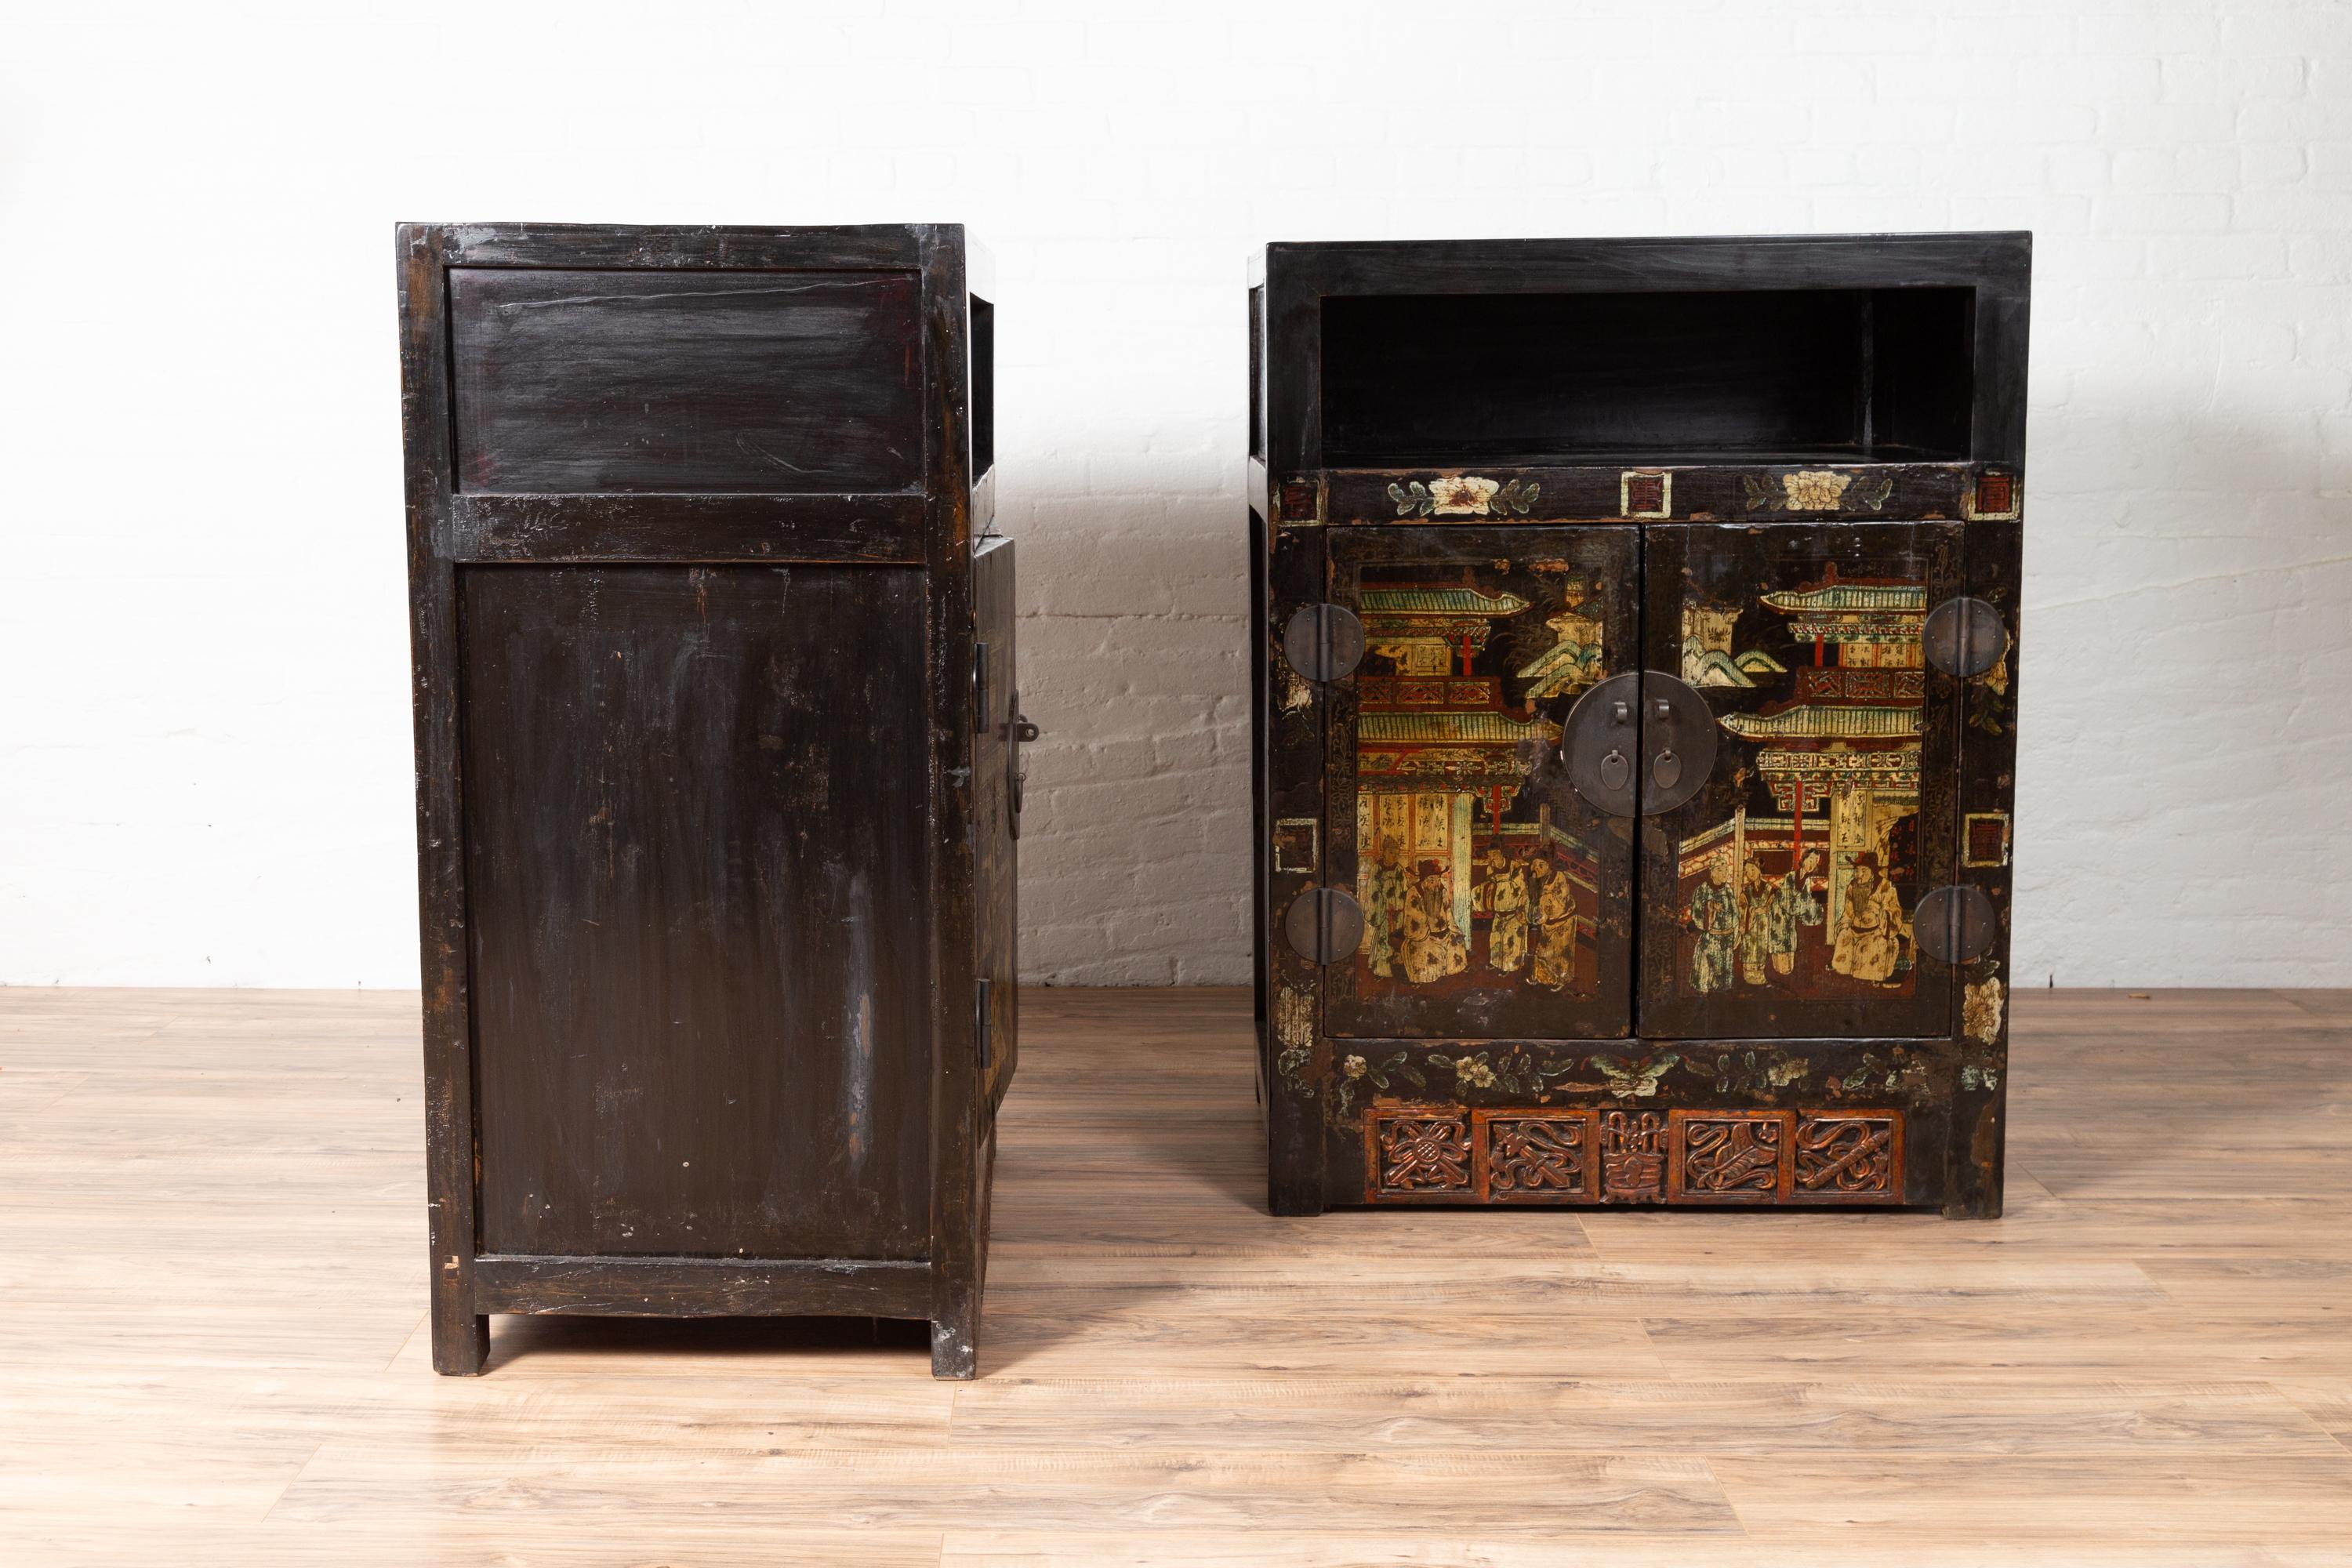
[[[1334,294],[1329,468],[1945,463],[1976,289]]]

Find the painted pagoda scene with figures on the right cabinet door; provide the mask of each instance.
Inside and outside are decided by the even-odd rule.
[[[1778,621],[1759,628],[1778,651],[1731,654],[1752,621],[1743,607],[1684,604],[1684,679],[1780,696],[1719,715],[1752,745],[1755,785],[1677,846],[1682,985],[1910,994],[1926,583],[1828,564],[1757,604]]]

